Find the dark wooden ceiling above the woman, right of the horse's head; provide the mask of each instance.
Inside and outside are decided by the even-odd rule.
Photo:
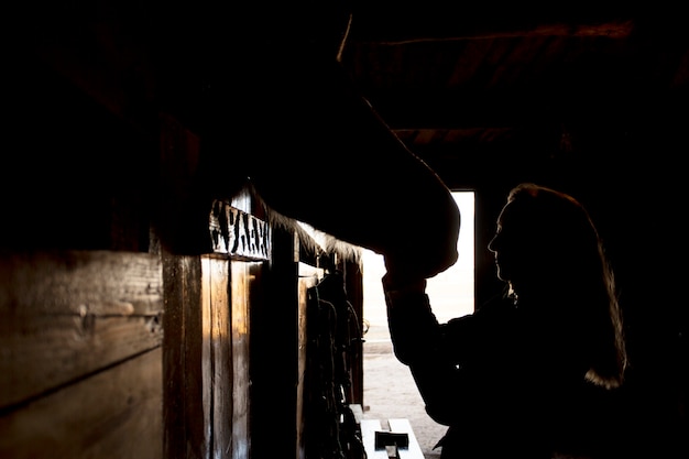
[[[467,165],[624,155],[611,149],[687,127],[685,18],[656,2],[367,2],[341,61],[397,136],[464,184]]]

